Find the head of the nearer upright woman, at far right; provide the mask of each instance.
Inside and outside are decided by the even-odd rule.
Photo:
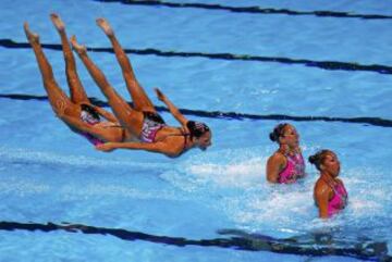
[[[326,172],[331,176],[340,173],[340,161],[338,155],[329,149],[322,149],[309,157],[309,162],[320,172]]]

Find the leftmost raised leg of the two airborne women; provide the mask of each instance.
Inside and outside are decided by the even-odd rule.
[[[49,102],[54,113],[57,115],[77,114],[77,112],[73,110],[71,100],[66,97],[65,92],[59,87],[54,79],[51,65],[45,57],[45,53],[42,52],[41,46],[39,43],[39,36],[29,30],[28,24],[26,22],[24,23],[23,27],[28,42],[32,45],[34,50],[39,71],[41,73],[44,87],[48,93]]]

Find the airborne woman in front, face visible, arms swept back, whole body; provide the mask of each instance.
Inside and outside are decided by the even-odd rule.
[[[132,97],[132,105],[110,85],[103,72],[89,58],[86,47],[79,45],[76,37],[71,38],[71,45],[108,99],[108,103],[121,126],[136,138],[125,142],[106,142],[98,145],[96,149],[105,152],[115,149],[145,150],[177,158],[193,148],[206,150],[210,147],[212,138],[210,128],[204,123],[188,121],[159,89],[156,89],[158,99],[168,107],[181,126],[164,124],[152,101],[136,79],[131,60],[121,47],[108,21],[98,18],[96,22],[111,42],[125,86]]]

